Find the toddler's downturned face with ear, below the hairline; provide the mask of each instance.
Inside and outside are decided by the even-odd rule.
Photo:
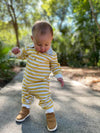
[[[45,53],[50,49],[53,36],[50,33],[45,35],[40,35],[36,38],[31,36],[32,41],[34,42],[34,47],[38,52]]]

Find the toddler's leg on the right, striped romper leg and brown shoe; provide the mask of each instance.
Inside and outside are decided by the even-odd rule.
[[[31,86],[30,93],[40,99],[39,105],[46,111],[48,130],[55,131],[57,129],[57,123],[53,110],[53,100],[49,92],[49,82],[34,83]]]

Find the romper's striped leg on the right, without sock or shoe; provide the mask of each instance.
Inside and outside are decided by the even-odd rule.
[[[51,99],[49,92],[49,82],[37,82],[29,86],[30,93],[38,98],[39,105],[43,109],[50,109],[53,107],[53,100]]]

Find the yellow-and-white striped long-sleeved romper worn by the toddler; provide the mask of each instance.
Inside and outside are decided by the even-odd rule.
[[[22,84],[22,104],[31,105],[35,96],[43,109],[52,108],[49,75],[52,71],[56,78],[62,76],[56,53],[51,48],[46,53],[40,53],[33,46],[28,46],[21,50],[18,58],[27,59]]]

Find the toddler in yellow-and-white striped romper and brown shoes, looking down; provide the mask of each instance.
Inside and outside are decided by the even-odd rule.
[[[22,108],[16,117],[17,122],[24,121],[30,114],[30,105],[34,97],[45,110],[47,129],[55,131],[57,122],[53,109],[53,100],[49,92],[49,75],[51,71],[64,86],[57,55],[51,48],[53,29],[46,21],[37,21],[32,27],[33,45],[23,49],[15,47],[12,52],[20,59],[27,59],[22,83]]]

